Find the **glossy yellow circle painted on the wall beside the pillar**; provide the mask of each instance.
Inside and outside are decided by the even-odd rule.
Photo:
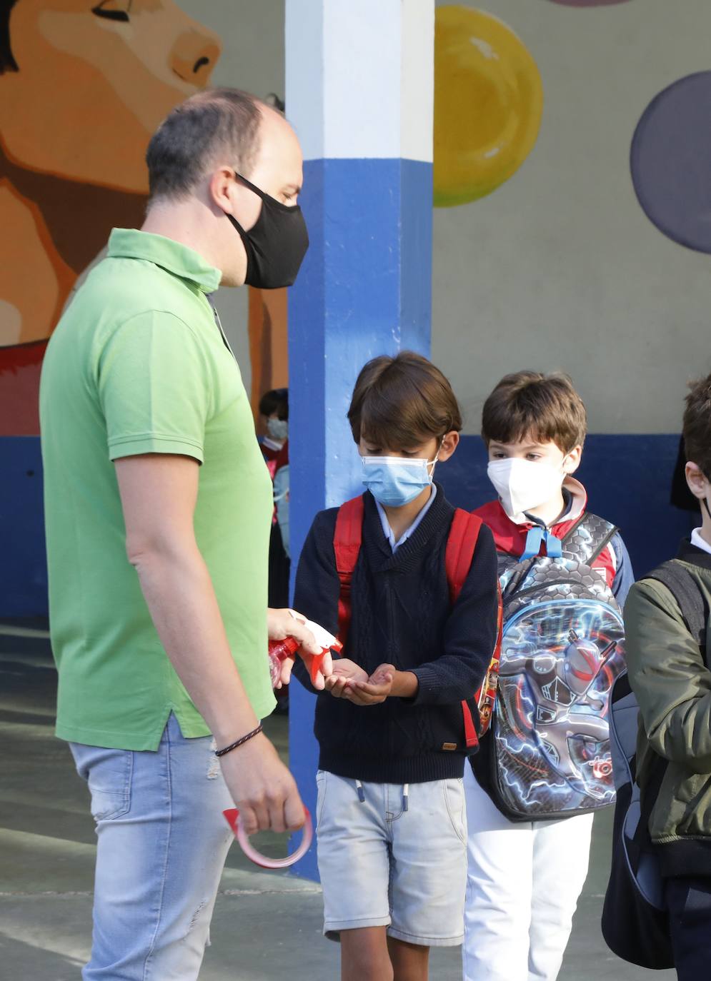
[[[475,201],[508,181],[532,150],[542,113],[538,68],[511,27],[471,7],[438,7],[435,206]]]

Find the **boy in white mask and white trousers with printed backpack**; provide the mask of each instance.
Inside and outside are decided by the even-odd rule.
[[[465,981],[555,981],[587,874],[593,813],[583,811],[594,809],[596,795],[601,803],[612,800],[604,744],[605,699],[615,670],[622,666],[617,603],[624,603],[633,577],[627,549],[614,526],[585,517],[586,493],[573,477],[585,432],[585,407],[567,375],[507,375],[484,403],[481,435],[498,498],[475,514],[494,534],[505,632],[494,726],[471,757],[471,767],[465,768]],[[586,587],[588,594],[580,599],[575,592],[579,566],[574,561],[579,556],[572,542],[576,534],[590,542],[586,521],[592,534],[599,535],[599,548],[592,545],[587,553],[589,566],[582,578],[592,587]],[[540,579],[525,578],[534,564],[539,577],[552,568],[538,556],[556,562],[549,593],[544,583],[535,594],[531,584]],[[550,610],[547,620],[538,624],[538,633],[534,617],[529,616],[532,629],[529,624],[527,633],[520,619],[508,617],[507,594],[511,602],[517,575],[522,584],[516,597],[518,617],[527,614],[526,588],[531,605],[552,607],[559,602],[564,611],[555,627],[560,643],[551,644],[544,636],[551,631]],[[609,605],[598,601],[594,591],[604,594]],[[591,629],[590,618],[599,620],[601,611],[620,625],[615,640],[602,629]],[[510,621],[514,629],[507,632]],[[502,697],[512,683],[522,706],[514,719],[520,740],[515,747],[497,735],[506,716],[515,714],[512,703]],[[501,757],[509,751],[504,761]],[[510,787],[517,783],[516,765],[523,773],[519,809],[512,803],[516,797]],[[535,774],[528,784],[526,769]],[[547,796],[539,790],[546,783]],[[556,798],[553,791],[562,796]],[[566,817],[562,811],[558,817],[559,800],[575,816]],[[531,807],[528,816],[526,804]],[[537,813],[546,819],[538,819]]]

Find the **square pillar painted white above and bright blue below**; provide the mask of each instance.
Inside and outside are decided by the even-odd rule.
[[[358,371],[377,354],[429,353],[433,74],[434,0],[286,0],[311,243],[289,296],[295,559],[314,514],[360,489],[346,418]],[[312,813],[314,702],[292,686],[291,766]],[[297,871],[317,877],[314,849]]]

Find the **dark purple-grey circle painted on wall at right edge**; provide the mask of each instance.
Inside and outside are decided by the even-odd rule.
[[[634,130],[629,166],[659,231],[711,253],[711,72],[680,78],[652,99]]]

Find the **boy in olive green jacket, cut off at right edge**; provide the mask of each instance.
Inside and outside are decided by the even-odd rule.
[[[680,981],[709,974],[711,957],[711,375],[692,387],[684,412],[685,476],[702,507],[701,527],[680,545],[691,591],[705,609],[692,636],[665,585],[643,579],[625,608],[629,683],[642,726],[636,780],[643,807],[656,794],[649,833],[665,880],[674,964]],[[699,644],[699,641],[701,642]],[[658,790],[654,790],[654,788]]]

